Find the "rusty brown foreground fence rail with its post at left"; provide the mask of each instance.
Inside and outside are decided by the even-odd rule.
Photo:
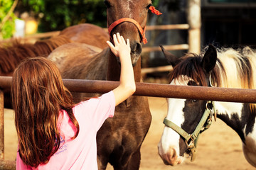
[[[63,79],[70,91],[103,94],[118,86],[118,81]],[[228,89],[202,86],[137,83],[134,95],[163,98],[191,98],[210,101],[256,103],[255,89]],[[10,89],[11,77],[0,77],[0,89]],[[4,160],[4,93],[0,90],[0,169],[15,169],[14,161]]]

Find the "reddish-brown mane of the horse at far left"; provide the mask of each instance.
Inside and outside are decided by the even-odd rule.
[[[56,47],[71,42],[65,35],[38,40],[35,44],[21,43],[15,39],[0,46],[0,74],[11,75],[14,69],[26,57],[47,57]]]

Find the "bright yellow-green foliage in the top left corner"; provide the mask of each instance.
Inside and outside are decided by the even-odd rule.
[[[13,0],[0,0],[0,40],[4,38],[11,38],[15,30],[14,13],[11,13],[10,18],[2,23],[6,14],[10,11],[12,4],[14,4]]]

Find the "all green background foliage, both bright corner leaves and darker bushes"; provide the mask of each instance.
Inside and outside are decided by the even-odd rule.
[[[154,0],[158,6],[160,0]],[[8,13],[14,0],[0,0],[0,22]],[[15,9],[18,13],[28,12],[39,21],[38,32],[63,30],[78,23],[107,26],[107,11],[103,0],[19,0]],[[1,35],[10,38],[15,30],[14,13],[1,26]]]

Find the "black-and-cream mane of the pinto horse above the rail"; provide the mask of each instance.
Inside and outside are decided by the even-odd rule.
[[[179,62],[170,73],[170,81],[186,75],[191,77],[200,86],[207,86],[206,75],[201,67],[204,51],[200,55],[189,53],[181,57]],[[210,81],[213,86],[255,89],[256,81],[256,52],[250,47],[240,49],[220,48],[217,49],[217,62],[211,72]],[[250,105],[256,108],[255,104]]]

